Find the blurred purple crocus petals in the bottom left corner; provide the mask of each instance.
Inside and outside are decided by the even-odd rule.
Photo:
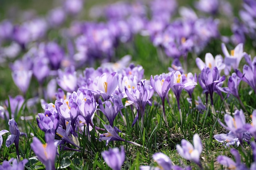
[[[23,159],[19,162],[14,158],[11,158],[9,161],[4,160],[0,165],[0,170],[24,170],[27,162],[27,159]]]

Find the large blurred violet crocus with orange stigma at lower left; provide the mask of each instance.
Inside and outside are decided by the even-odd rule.
[[[57,146],[54,144],[54,135],[51,132],[45,133],[45,141],[46,143],[42,144],[37,137],[33,137],[30,146],[46,170],[55,170]]]

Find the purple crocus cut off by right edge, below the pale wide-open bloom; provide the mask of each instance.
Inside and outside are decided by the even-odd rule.
[[[256,93],[256,57],[254,57],[252,62],[249,61],[248,64],[249,65],[244,65],[243,73],[236,69],[236,74],[238,77],[242,78],[245,83],[251,86]]]

